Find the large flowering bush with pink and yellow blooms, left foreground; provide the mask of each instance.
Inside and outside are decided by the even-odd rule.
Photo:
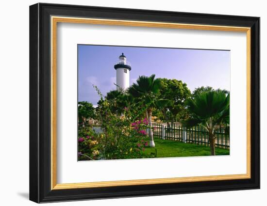
[[[124,107],[122,115],[118,115],[114,112],[113,103],[114,96],[118,93],[113,92],[109,97],[103,97],[100,90],[95,86],[98,94],[100,95],[100,105],[96,109],[97,118],[101,122],[101,128],[103,132],[100,134],[94,134],[93,141],[97,141],[92,145],[90,139],[83,138],[79,145],[79,157],[82,159],[123,159],[123,158],[148,158],[149,155],[145,154],[145,147],[148,146],[146,130],[149,127],[147,119],[143,121],[137,121],[137,118],[141,113],[146,111],[146,108],[139,108],[134,110]],[[123,95],[123,94],[119,94]],[[134,104],[134,103],[132,103]],[[138,104],[134,104],[134,107],[138,107]],[[86,132],[92,132],[88,130]],[[88,133],[83,133],[81,130],[80,136],[89,136]],[[81,138],[81,137],[80,137]],[[79,140],[78,140],[79,141]],[[82,150],[83,149],[83,150]],[[84,152],[85,151],[85,152]],[[93,155],[93,156],[92,156]]]

